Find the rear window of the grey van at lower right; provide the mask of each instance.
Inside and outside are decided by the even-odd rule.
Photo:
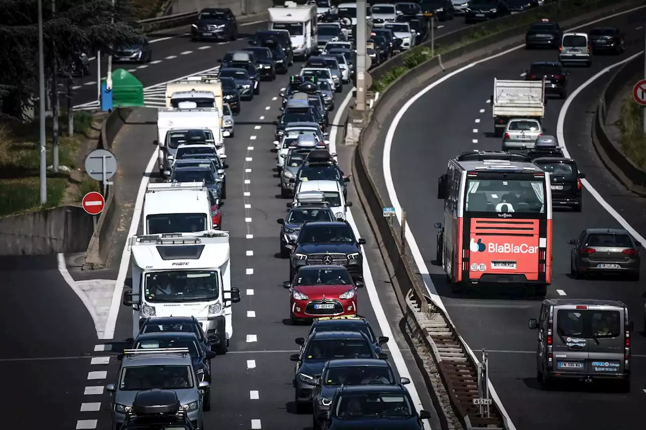
[[[621,316],[619,311],[600,311],[589,309],[559,309],[556,320],[556,333],[567,343],[576,338],[616,338],[621,335]],[[572,338],[575,339],[567,339]],[[566,343],[566,344],[567,344]],[[570,345],[568,345],[570,346]]]

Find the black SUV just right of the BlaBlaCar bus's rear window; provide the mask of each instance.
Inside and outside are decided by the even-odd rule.
[[[581,212],[581,179],[585,178],[585,173],[579,172],[576,161],[570,158],[543,157],[534,159],[534,164],[550,174],[552,207],[571,207],[575,212]]]

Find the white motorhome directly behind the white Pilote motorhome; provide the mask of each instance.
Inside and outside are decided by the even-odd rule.
[[[203,183],[149,183],[143,197],[143,234],[213,230],[213,194]]]

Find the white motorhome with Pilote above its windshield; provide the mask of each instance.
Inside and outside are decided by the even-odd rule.
[[[132,336],[147,318],[194,316],[215,348],[225,354],[233,336],[231,303],[240,290],[231,287],[229,233],[169,233],[132,236],[132,291],[123,304],[132,307]]]

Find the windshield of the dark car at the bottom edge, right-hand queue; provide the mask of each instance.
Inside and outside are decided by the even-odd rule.
[[[343,394],[337,400],[334,415],[342,420],[360,416],[412,416],[408,398],[401,394]]]

